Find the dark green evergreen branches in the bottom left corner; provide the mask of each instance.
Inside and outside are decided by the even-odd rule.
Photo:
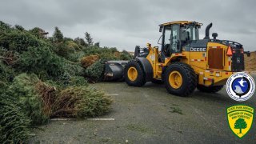
[[[30,120],[11,95],[0,94],[0,143],[22,143],[29,138]]]

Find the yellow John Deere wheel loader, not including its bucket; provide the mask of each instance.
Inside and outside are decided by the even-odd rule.
[[[217,39],[217,33],[210,38],[212,23],[206,26],[205,38],[199,39],[201,26],[188,21],[161,24],[161,47],[136,46],[134,60],[123,71],[126,83],[164,82],[166,90],[178,96],[188,96],[196,88],[210,93],[221,90],[231,74],[245,69],[246,52],[238,42]]]

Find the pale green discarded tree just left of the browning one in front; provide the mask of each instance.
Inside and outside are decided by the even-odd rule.
[[[32,125],[40,125],[50,118],[50,114],[44,113],[42,97],[36,90],[38,82],[41,81],[35,74],[19,74],[14,78],[8,92],[9,95],[18,98],[18,106],[31,119]]]

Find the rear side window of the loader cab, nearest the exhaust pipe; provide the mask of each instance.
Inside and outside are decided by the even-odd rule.
[[[182,41],[198,40],[198,26],[188,26],[182,28]]]

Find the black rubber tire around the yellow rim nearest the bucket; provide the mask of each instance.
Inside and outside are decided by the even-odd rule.
[[[135,67],[138,72],[138,76],[134,81],[130,80],[130,78],[128,77],[128,70],[130,67]],[[125,71],[125,80],[127,85],[140,87],[140,86],[144,86],[144,84],[146,83],[145,73],[139,62],[136,62],[136,61],[128,62],[124,71]]]

